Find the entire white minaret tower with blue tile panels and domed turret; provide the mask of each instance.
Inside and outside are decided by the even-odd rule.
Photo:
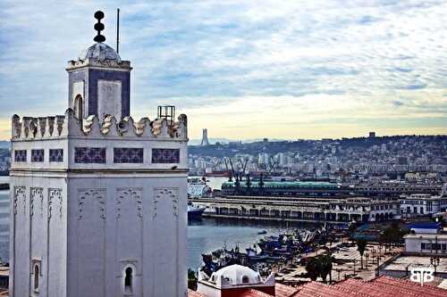
[[[103,28],[69,62],[64,115],[13,116],[10,296],[187,295],[187,119],[132,120]]]

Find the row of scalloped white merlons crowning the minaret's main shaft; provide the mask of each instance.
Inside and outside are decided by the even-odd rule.
[[[181,114],[178,120],[147,117],[134,121],[130,116],[117,121],[114,116],[106,115],[100,121],[96,115],[78,120],[71,108],[64,115],[49,117],[22,117],[17,114],[12,119],[12,141],[50,139],[65,136],[80,137],[145,137],[164,140],[188,141],[187,117]]]

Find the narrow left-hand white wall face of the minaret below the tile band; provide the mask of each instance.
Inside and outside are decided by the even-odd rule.
[[[10,296],[66,296],[66,182],[63,177],[11,177]],[[32,264],[40,268],[34,290]]]

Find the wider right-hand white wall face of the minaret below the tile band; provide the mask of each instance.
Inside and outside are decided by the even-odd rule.
[[[70,178],[70,296],[186,296],[185,177]]]

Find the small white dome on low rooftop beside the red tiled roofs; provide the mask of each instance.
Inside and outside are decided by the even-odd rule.
[[[232,285],[252,285],[262,282],[258,272],[237,264],[217,270],[211,275],[210,280],[216,282],[221,277]]]

